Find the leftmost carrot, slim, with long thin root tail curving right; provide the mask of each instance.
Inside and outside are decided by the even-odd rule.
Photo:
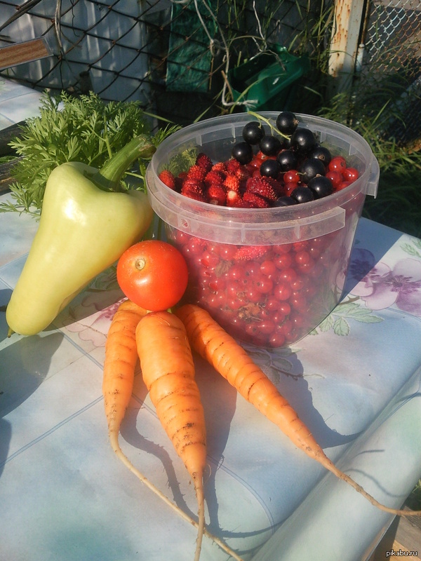
[[[140,308],[140,306],[133,304],[130,300],[125,300],[120,304],[109,326],[107,342],[105,344],[104,375],[102,381],[109,440],[116,456],[144,485],[159,496],[181,518],[199,529],[199,524],[195,520],[172,503],[145,475],[133,466],[131,461],[123,454],[119,445],[119,430],[131,399],[135,366],[138,361],[135,331],[140,319],[146,313],[147,311]],[[200,531],[203,533],[202,530]],[[243,561],[231,548],[219,538],[210,534],[206,529],[204,529],[204,534],[236,561]]]

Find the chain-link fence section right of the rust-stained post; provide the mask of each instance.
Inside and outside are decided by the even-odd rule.
[[[387,133],[406,144],[421,138],[421,1],[370,0],[360,46],[357,92],[388,116]]]

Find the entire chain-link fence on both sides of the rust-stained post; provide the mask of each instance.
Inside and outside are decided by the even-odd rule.
[[[104,100],[139,100],[148,111],[186,124],[201,116],[244,109],[232,105],[236,95],[229,73],[280,46],[295,56],[309,56],[310,69],[295,80],[298,89],[290,96],[290,108],[311,112],[326,102],[323,65],[333,4],[333,0],[27,0],[23,4],[0,0],[0,46],[42,38],[50,53],[1,74],[39,90],[65,89],[77,95],[92,89]],[[419,137],[420,0],[367,0],[366,4],[357,95],[382,88],[385,102],[392,104],[393,98],[393,107],[406,115],[394,121],[396,134]],[[264,71],[268,72],[266,67]],[[276,81],[279,76],[269,88]],[[250,88],[250,81],[241,87]]]

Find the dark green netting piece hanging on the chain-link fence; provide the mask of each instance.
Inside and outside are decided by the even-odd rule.
[[[210,39],[203,29],[195,4],[209,36],[215,36],[215,20],[202,1],[187,6],[173,4],[166,70],[166,88],[169,91],[203,93],[208,90],[212,65]],[[208,6],[213,9],[211,1],[208,1]]]

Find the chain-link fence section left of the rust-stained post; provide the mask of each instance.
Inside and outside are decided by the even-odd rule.
[[[1,0],[0,6],[0,46],[42,37],[51,52],[3,75],[39,90],[93,89],[104,100],[139,100],[187,122],[206,110],[224,111],[228,69],[268,43],[307,49],[321,0]]]

